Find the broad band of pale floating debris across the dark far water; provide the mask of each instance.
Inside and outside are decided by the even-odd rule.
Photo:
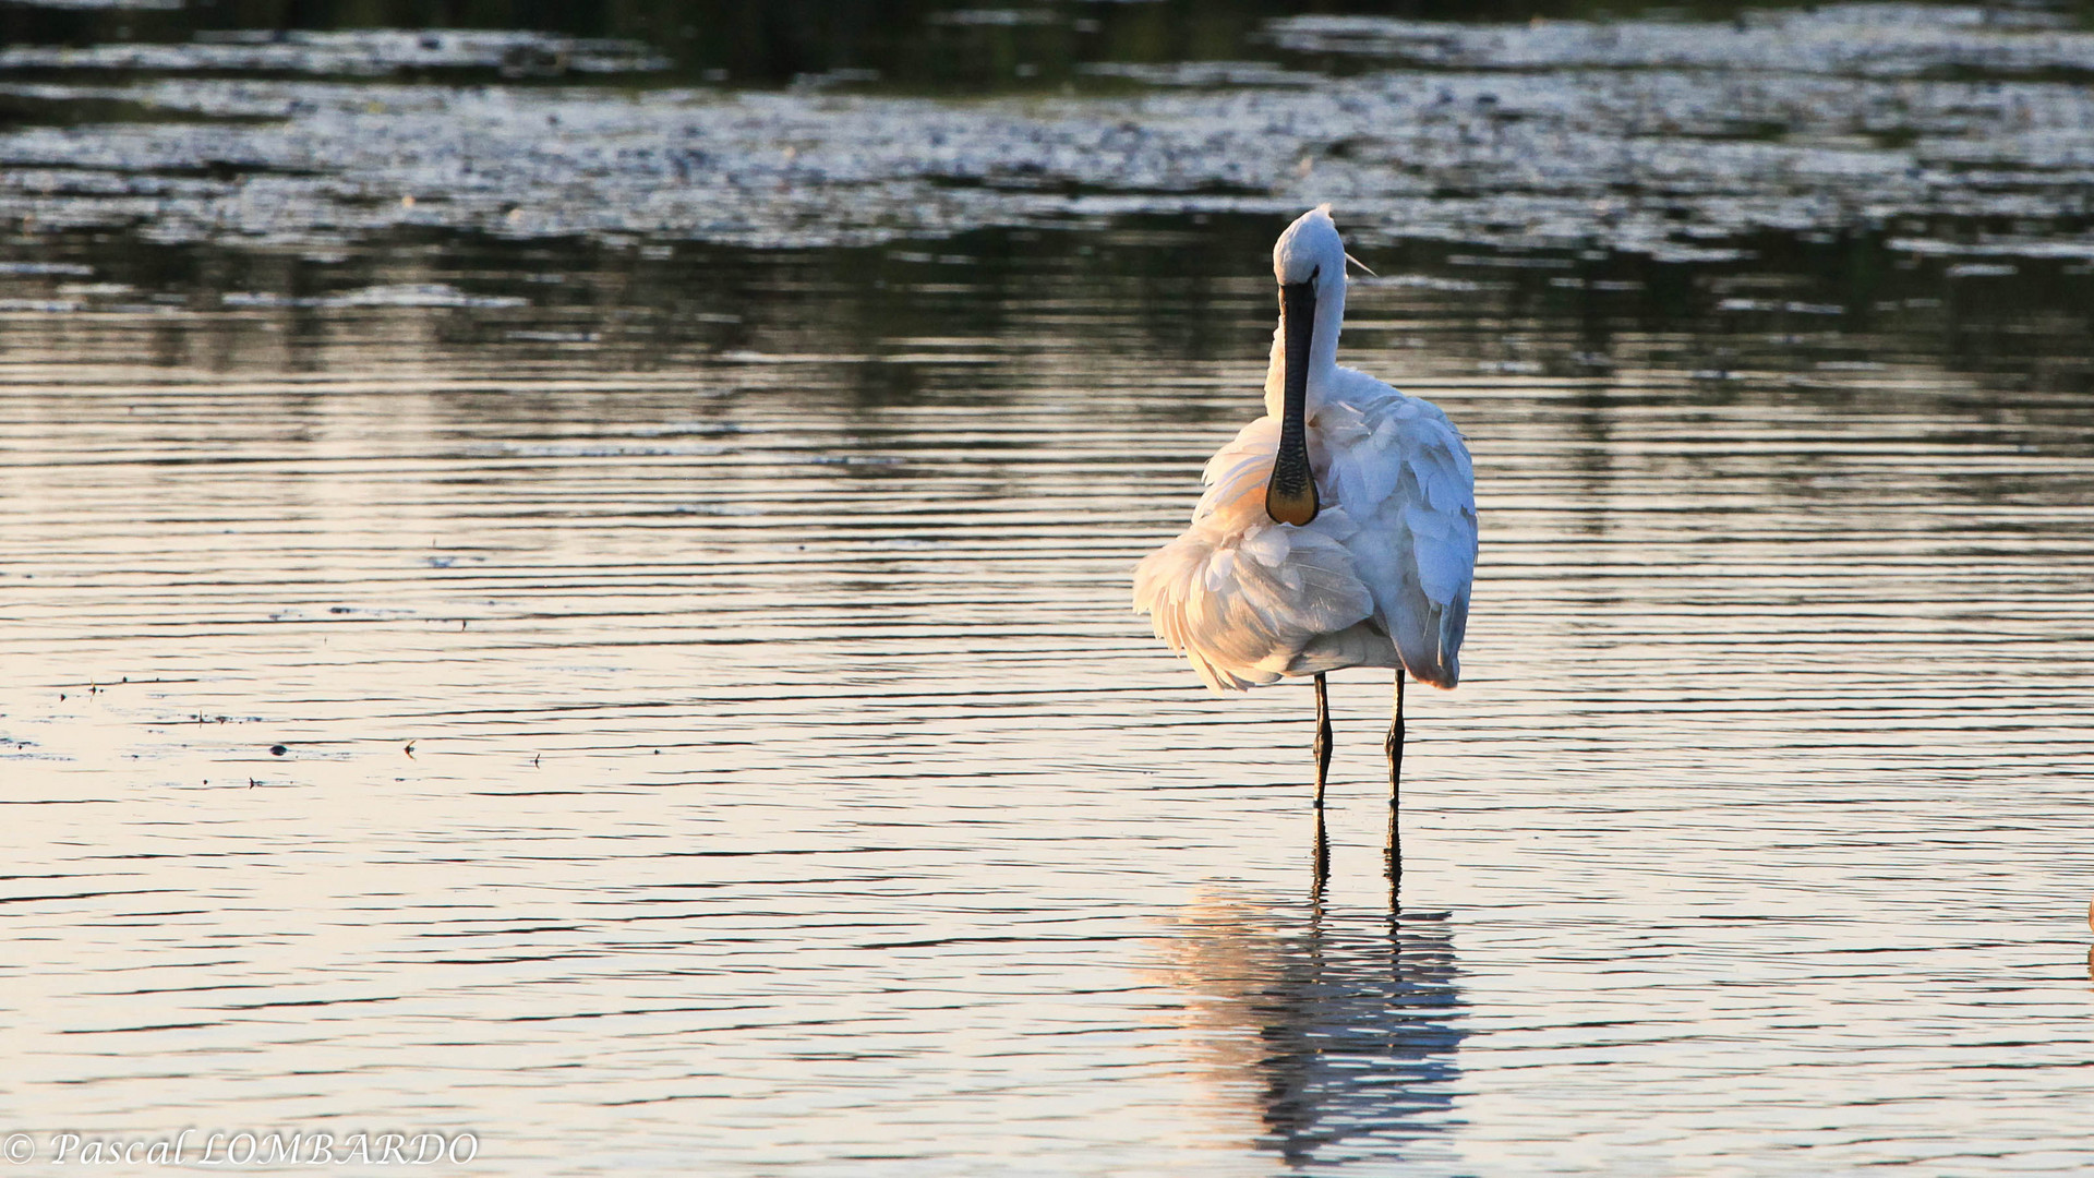
[[[258,252],[339,254],[396,228],[819,247],[1336,201],[1365,241],[1723,262],[1759,231],[1929,241],[1931,218],[2084,218],[2094,88],[2071,78],[2094,75],[2094,34],[2054,25],[1933,6],[1738,23],[1292,17],[1265,31],[1282,63],[1104,63],[1085,69],[1152,90],[970,101],[371,80],[519,52],[624,82],[653,67],[637,44],[538,34],[15,46],[0,71],[42,78],[0,96],[140,113],[0,134],[0,220]],[[1319,75],[1288,54],[1382,69]]]

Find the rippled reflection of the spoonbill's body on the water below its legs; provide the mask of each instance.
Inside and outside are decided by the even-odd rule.
[[[1288,1165],[1413,1159],[1445,1126],[1466,1033],[1445,912],[1208,903],[1162,947],[1217,1088],[1254,1092]]]

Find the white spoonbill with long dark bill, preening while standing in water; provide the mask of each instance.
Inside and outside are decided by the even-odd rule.
[[[1462,677],[1476,476],[1432,402],[1338,367],[1346,260],[1330,205],[1279,235],[1265,417],[1208,459],[1191,528],[1135,568],[1135,610],[1217,692],[1315,677],[1317,809],[1330,771],[1323,673],[1393,667],[1395,853],[1403,673],[1434,688]]]

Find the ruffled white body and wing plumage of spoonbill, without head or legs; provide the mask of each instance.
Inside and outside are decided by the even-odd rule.
[[[1135,610],[1215,690],[1340,667],[1453,688],[1476,568],[1474,474],[1432,405],[1338,369],[1309,415],[1321,514],[1265,514],[1279,421],[1206,463],[1191,528],[1135,568]]]

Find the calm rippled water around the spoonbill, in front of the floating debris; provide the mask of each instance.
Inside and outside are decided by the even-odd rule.
[[[1307,688],[1208,696],[1127,604],[1258,411],[1294,195],[752,247],[38,182],[0,199],[0,1132],[46,1163],[2094,1165],[2081,214],[1365,218],[1344,358],[1464,428],[1485,537],[1401,893],[1388,683],[1346,673],[1311,897]]]

